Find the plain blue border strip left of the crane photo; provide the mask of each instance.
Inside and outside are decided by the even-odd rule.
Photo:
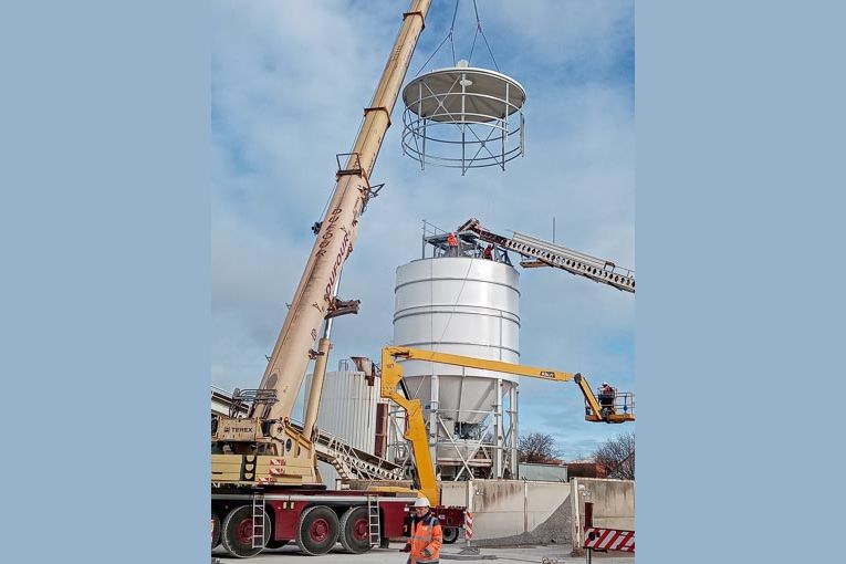
[[[209,7],[1,11],[0,560],[208,562]]]

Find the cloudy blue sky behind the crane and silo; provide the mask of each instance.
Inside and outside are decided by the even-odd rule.
[[[407,1],[212,2],[212,384],[255,387],[313,242],[311,224],[349,149]],[[395,269],[419,257],[420,220],[470,217],[497,231],[550,237],[635,268],[634,2],[478,0],[502,72],[526,90],[526,155],[505,173],[419,166],[401,155],[401,102],[344,270],[330,367],[391,340]],[[435,0],[407,79],[447,33],[455,2]],[[467,58],[472,1],[459,4]],[[451,65],[449,44],[429,67]],[[491,66],[477,44],[473,64]],[[635,300],[563,271],[520,270],[521,359],[636,389]],[[554,435],[586,456],[618,426],[582,418],[575,385],[523,379],[521,432]]]

